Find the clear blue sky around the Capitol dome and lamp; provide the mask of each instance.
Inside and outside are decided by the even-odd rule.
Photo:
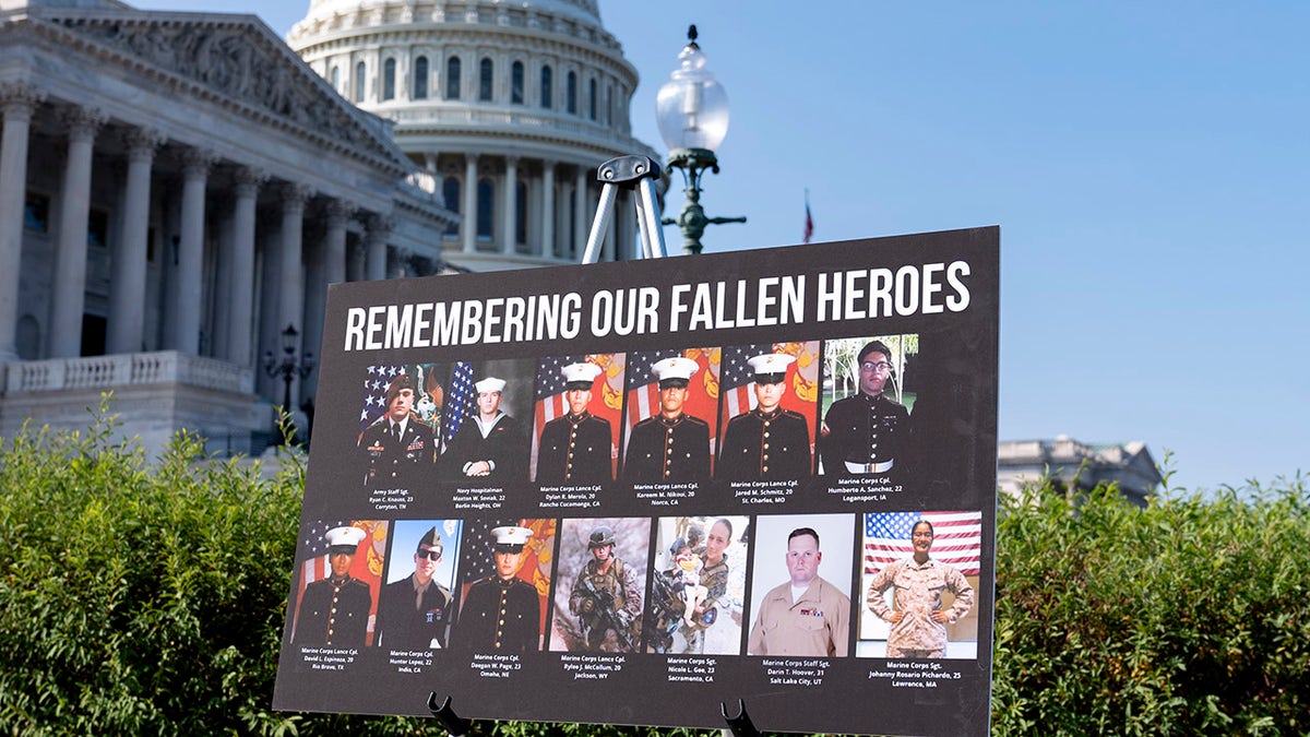
[[[283,35],[309,7],[135,4]],[[655,148],[689,22],[727,89],[702,202],[749,222],[706,250],[799,243],[806,188],[815,240],[1000,224],[1001,438],[1141,439],[1193,489],[1310,471],[1310,4],[601,0],[601,17]]]

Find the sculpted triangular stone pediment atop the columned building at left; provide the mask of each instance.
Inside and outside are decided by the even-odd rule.
[[[96,46],[128,55],[314,136],[409,170],[386,125],[343,100],[255,16],[220,13],[42,13]]]

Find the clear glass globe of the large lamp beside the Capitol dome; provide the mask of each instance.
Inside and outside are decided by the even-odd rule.
[[[728,132],[728,94],[705,68],[705,54],[694,39],[677,60],[679,68],[655,100],[659,134],[669,148],[715,151]]]

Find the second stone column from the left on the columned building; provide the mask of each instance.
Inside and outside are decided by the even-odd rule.
[[[68,161],[59,207],[59,244],[55,249],[54,304],[50,317],[50,357],[81,355],[81,321],[86,304],[86,218],[90,215],[90,168],[96,131],[105,114],[72,109],[63,114],[68,126]]]

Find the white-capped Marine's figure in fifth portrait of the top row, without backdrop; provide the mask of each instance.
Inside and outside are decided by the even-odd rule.
[[[747,361],[755,371],[755,409],[728,421],[714,473],[719,479],[799,479],[810,475],[806,418],[781,407],[787,365],[795,358],[766,353]]]

